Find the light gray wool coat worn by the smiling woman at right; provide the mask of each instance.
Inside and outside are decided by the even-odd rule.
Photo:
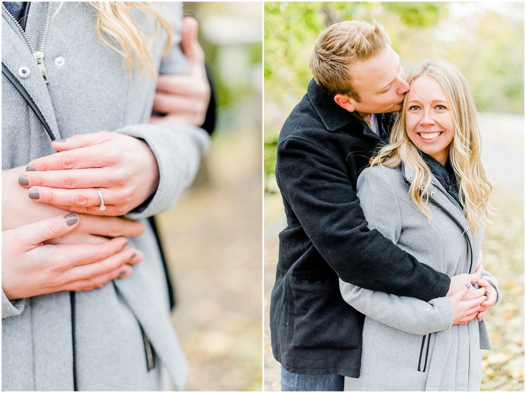
[[[407,166],[363,171],[358,197],[369,227],[449,276],[473,273],[482,230],[472,233],[460,207],[434,176],[429,221],[409,197],[407,182],[413,175]],[[498,291],[491,274],[483,271],[482,278]],[[425,302],[341,280],[340,289],[347,303],[366,315],[360,377],[346,377],[345,390],[480,390],[480,349],[490,349],[484,321],[452,325],[447,297]]]

